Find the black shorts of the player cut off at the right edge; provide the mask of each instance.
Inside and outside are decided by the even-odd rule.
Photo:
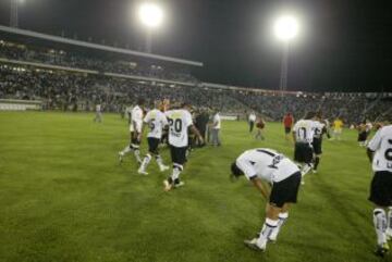
[[[369,200],[379,207],[392,205],[392,172],[377,171],[375,173]]]

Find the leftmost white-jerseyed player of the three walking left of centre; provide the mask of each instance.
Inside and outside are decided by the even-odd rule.
[[[145,100],[139,98],[137,105],[132,109],[131,112],[131,144],[124,148],[123,151],[119,152],[120,163],[122,162],[124,155],[128,152],[134,152],[136,161],[142,164],[140,159],[140,140],[142,140],[142,126],[143,126],[143,107]]]

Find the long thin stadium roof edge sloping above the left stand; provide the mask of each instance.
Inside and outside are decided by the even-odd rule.
[[[123,48],[109,47],[109,46],[86,42],[86,41],[81,41],[81,40],[74,40],[74,39],[64,38],[64,37],[60,37],[60,36],[51,36],[51,35],[47,35],[47,34],[41,34],[41,33],[36,33],[36,32],[25,30],[25,29],[20,29],[20,28],[13,28],[13,27],[2,26],[2,25],[0,25],[0,32],[15,34],[15,35],[22,35],[22,36],[26,36],[26,37],[45,39],[45,40],[49,40],[49,41],[53,41],[53,42],[68,43],[68,45],[73,45],[73,46],[79,46],[79,47],[85,47],[85,48],[102,50],[102,51],[109,51],[109,52],[135,55],[135,57],[140,57],[140,58],[173,62],[173,63],[185,64],[185,65],[193,65],[193,66],[203,66],[204,65],[201,62],[170,58],[170,57],[164,57],[164,55],[159,55],[159,54],[138,52],[138,51],[133,51],[133,50],[123,49]]]

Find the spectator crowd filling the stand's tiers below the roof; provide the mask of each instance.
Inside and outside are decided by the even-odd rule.
[[[189,101],[197,108],[246,117],[256,111],[267,120],[281,121],[286,112],[295,118],[307,111],[322,111],[324,117],[340,116],[345,123],[359,123],[364,118],[382,121],[392,118],[391,93],[286,93],[225,89],[200,85],[192,74],[180,66],[163,67],[147,63],[107,60],[94,55],[68,53],[59,50],[26,48],[0,41],[0,99],[40,100],[45,110],[91,111],[101,104],[103,111],[123,112],[138,97],[154,100]],[[15,61],[61,65],[72,68],[94,70],[99,73],[69,72],[15,64]],[[184,82],[188,85],[140,82],[101,73],[138,75],[164,80]]]

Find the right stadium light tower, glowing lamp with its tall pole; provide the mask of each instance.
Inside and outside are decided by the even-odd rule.
[[[278,40],[283,42],[283,54],[281,64],[281,77],[279,89],[287,89],[290,42],[298,35],[298,22],[294,16],[283,15],[275,21],[273,30]],[[282,92],[283,95],[283,92]]]

